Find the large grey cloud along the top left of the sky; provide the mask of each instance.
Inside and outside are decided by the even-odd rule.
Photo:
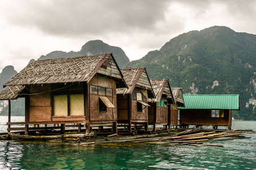
[[[108,32],[150,31],[164,19],[168,1],[21,2],[12,24],[35,27],[48,34],[73,36]]]

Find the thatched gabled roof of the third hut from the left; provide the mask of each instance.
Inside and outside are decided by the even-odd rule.
[[[150,79],[150,83],[156,98],[148,99],[148,101],[159,102],[162,95],[166,95],[167,98],[172,99],[172,103],[174,103],[174,97],[172,96],[171,86],[168,79]]]

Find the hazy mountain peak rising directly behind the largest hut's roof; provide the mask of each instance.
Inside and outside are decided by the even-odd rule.
[[[125,52],[118,46],[111,46],[104,43],[101,40],[92,40],[85,43],[79,52],[62,52],[55,51],[41,56],[39,59],[53,59],[53,58],[64,58],[64,57],[79,57],[79,56],[93,56],[97,54],[113,53],[113,57],[120,68],[126,63],[130,62],[130,59],[126,56]]]

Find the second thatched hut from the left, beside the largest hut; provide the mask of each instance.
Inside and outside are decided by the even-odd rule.
[[[117,88],[118,124],[148,128],[148,98],[155,98],[145,68],[121,69],[128,88]]]

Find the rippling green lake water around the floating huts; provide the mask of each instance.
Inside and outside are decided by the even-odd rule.
[[[233,121],[232,129],[256,130],[256,121]],[[0,169],[256,169],[256,134],[243,135],[251,138],[205,142],[224,147],[0,141]]]

